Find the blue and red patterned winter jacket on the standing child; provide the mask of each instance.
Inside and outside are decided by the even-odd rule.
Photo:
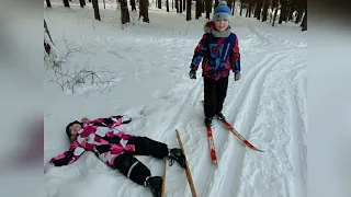
[[[204,31],[190,68],[196,71],[202,60],[202,76],[215,80],[228,77],[230,69],[240,72],[238,37],[231,33],[231,27],[218,32],[213,22],[207,22]]]

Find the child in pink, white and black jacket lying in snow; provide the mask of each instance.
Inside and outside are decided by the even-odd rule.
[[[127,116],[111,116],[67,125],[66,132],[71,140],[69,150],[53,158],[45,166],[49,167],[72,164],[84,151],[92,151],[107,166],[117,169],[126,177],[139,185],[149,187],[155,197],[161,196],[162,177],[151,176],[149,169],[133,157],[151,155],[157,159],[177,161],[185,169],[185,157],[181,149],[168,149],[168,146],[149,139],[117,130],[118,127],[132,121]]]

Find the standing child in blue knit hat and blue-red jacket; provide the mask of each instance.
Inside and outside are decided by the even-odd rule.
[[[230,8],[226,1],[222,1],[214,10],[213,21],[205,24],[205,34],[195,48],[190,67],[190,79],[196,79],[202,60],[205,125],[210,127],[215,115],[225,119],[222,108],[227,95],[230,69],[235,73],[235,81],[241,77],[238,37],[231,33],[229,18]]]

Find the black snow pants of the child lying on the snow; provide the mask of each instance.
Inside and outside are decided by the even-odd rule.
[[[135,151],[127,151],[118,155],[114,160],[114,167],[135,183],[145,185],[146,178],[151,176],[150,170],[133,154],[165,159],[168,155],[168,146],[147,137],[132,137],[128,139],[127,144],[134,144]]]

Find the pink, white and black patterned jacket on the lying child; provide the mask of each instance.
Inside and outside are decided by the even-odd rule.
[[[123,124],[128,124],[131,120],[126,116],[86,120],[69,150],[53,158],[49,163],[55,166],[72,164],[84,151],[92,151],[106,165],[113,166],[114,159],[117,155],[125,151],[135,151],[133,144],[127,144],[133,135],[125,134],[116,128]]]

